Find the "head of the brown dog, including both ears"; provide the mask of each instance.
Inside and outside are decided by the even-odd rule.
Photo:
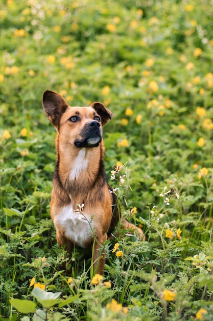
[[[63,97],[49,90],[43,93],[42,106],[62,144],[78,148],[99,146],[102,127],[112,118],[111,111],[102,103],[70,107]]]

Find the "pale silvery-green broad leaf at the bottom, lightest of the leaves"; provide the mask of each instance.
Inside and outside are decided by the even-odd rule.
[[[61,292],[46,292],[40,288],[35,288],[32,291],[32,295],[44,308],[50,308],[61,302],[61,299],[58,298],[61,295]]]

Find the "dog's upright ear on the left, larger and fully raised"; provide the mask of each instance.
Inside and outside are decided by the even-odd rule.
[[[68,107],[65,99],[54,91],[46,90],[43,93],[42,106],[51,124],[58,127],[60,118]]]

